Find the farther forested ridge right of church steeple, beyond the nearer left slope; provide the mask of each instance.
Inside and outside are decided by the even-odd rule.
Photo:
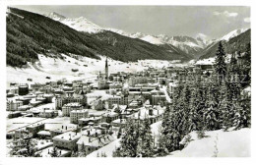
[[[175,47],[161,47],[141,39],[130,38],[112,31],[100,31],[91,34],[94,38],[112,45],[116,50],[122,52],[115,58],[122,61],[134,61],[148,59],[181,60],[191,59],[186,53]],[[157,52],[157,53],[156,53]],[[111,56],[110,56],[111,57]]]

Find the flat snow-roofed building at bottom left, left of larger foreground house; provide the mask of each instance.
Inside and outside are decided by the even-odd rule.
[[[52,140],[53,140],[53,145],[56,147],[76,151],[78,149],[77,141],[79,140],[80,137],[81,137],[80,133],[67,132],[52,138]]]

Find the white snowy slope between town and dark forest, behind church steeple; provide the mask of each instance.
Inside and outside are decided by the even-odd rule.
[[[32,83],[46,83],[66,79],[67,81],[85,80],[93,81],[99,72],[104,72],[105,57],[99,56],[101,60],[91,59],[83,56],[78,56],[79,59],[62,54],[64,59],[46,57],[38,55],[39,61],[35,65],[30,64],[30,68],[18,69],[7,66],[7,87],[10,83],[31,83],[28,79],[32,79]],[[142,71],[148,67],[168,66],[169,63],[162,60],[140,60],[139,62],[123,63],[120,61],[108,58],[108,72],[126,72],[135,73]],[[72,69],[78,69],[78,72],[72,72]],[[50,77],[51,79],[45,79]]]

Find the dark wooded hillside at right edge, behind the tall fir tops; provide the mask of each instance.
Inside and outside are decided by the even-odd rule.
[[[244,52],[246,44],[251,41],[251,29],[242,32],[241,34],[230,38],[228,41],[222,40],[224,44],[224,51],[227,54],[231,54],[234,51]],[[200,54],[199,59],[208,59],[216,56],[219,41],[215,41],[208,45]]]

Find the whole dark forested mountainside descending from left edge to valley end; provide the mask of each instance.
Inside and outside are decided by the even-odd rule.
[[[22,67],[38,60],[37,54],[77,54],[98,59],[105,55],[123,62],[139,59],[189,60],[183,53],[114,32],[80,32],[32,12],[9,8],[7,18],[7,65]],[[113,44],[108,39],[117,40]],[[61,56],[60,56],[61,57]]]

